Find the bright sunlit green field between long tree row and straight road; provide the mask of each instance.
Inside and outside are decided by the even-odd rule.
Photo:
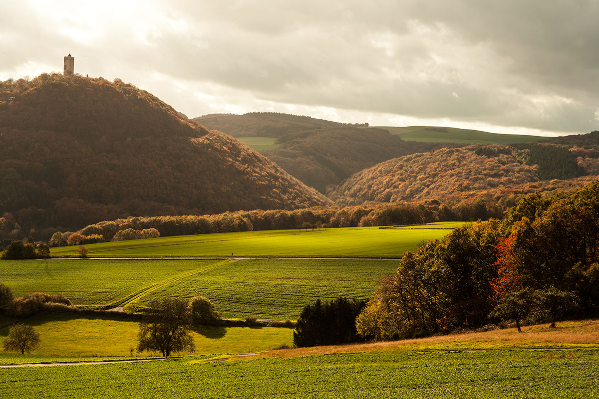
[[[428,239],[438,239],[461,222],[379,229],[196,234],[87,245],[89,257],[401,257]],[[78,246],[52,248],[52,256],[77,256]]]

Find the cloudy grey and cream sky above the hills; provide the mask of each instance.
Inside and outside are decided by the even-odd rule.
[[[0,0],[0,80],[120,78],[188,117],[599,130],[599,0]]]

